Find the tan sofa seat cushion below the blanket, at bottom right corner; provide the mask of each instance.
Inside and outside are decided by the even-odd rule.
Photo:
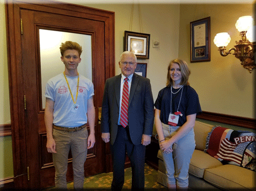
[[[256,190],[256,172],[237,165],[225,164],[205,169],[204,180],[228,190]]]

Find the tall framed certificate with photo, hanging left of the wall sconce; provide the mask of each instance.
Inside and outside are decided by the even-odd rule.
[[[191,62],[210,61],[210,16],[190,23]]]

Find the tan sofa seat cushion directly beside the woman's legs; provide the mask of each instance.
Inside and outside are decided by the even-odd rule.
[[[193,152],[188,172],[192,175],[203,178],[207,168],[215,168],[223,165],[219,160],[208,155],[204,151],[195,150]]]

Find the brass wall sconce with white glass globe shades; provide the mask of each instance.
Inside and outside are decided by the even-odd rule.
[[[228,52],[225,52],[225,50],[231,39],[227,32],[217,33],[213,41],[218,47],[218,50],[220,50],[221,56],[228,56],[228,54],[231,54],[231,51],[234,50],[233,55],[238,58],[241,61],[241,65],[251,73],[256,67],[256,26],[253,26],[253,18],[251,16],[240,17],[237,20],[236,28],[242,37],[240,41],[236,41],[236,45],[234,45],[235,48],[230,48]]]

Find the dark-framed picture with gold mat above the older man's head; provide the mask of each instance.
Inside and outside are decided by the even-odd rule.
[[[150,34],[125,31],[125,51],[133,52],[137,58],[148,59]]]

